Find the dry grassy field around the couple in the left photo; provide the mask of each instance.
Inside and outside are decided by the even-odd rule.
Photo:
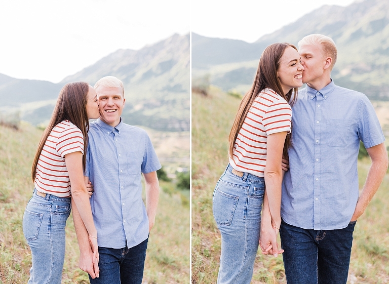
[[[30,167],[42,131],[22,124],[19,130],[0,126],[0,284],[26,283],[31,253],[22,231],[22,217],[33,185]],[[189,283],[189,191],[160,182],[155,227],[150,233],[143,283]],[[62,283],[89,283],[79,269],[79,249],[71,216],[66,225]]]

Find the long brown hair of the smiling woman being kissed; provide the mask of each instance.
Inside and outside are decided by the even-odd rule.
[[[269,45],[262,53],[261,58],[259,59],[257,73],[254,78],[253,85],[251,89],[243,97],[241,104],[239,105],[238,113],[235,116],[234,124],[232,125],[231,131],[228,137],[228,155],[232,158],[232,153],[234,152],[235,140],[238,137],[239,131],[243,125],[243,121],[246,118],[247,113],[251,105],[253,104],[255,98],[258,96],[259,92],[263,89],[270,88],[273,89],[277,94],[283,97],[290,105],[293,105],[297,99],[297,89],[293,88],[294,95],[292,96],[292,90],[290,90],[286,95],[284,94],[281,86],[280,79],[277,76],[277,70],[280,67],[280,59],[284,54],[284,51],[292,47],[295,50],[297,48],[288,43],[277,43]],[[293,99],[292,99],[293,97]],[[291,135],[286,136],[283,154],[287,155],[287,150],[292,144]]]

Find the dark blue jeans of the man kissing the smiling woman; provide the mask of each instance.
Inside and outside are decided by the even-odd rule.
[[[346,284],[355,222],[344,229],[280,228],[288,284]]]

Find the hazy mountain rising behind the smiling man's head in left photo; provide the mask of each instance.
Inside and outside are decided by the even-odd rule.
[[[103,76],[122,80],[124,121],[154,129],[189,130],[189,34],[174,34],[139,51],[118,50],[61,83]]]

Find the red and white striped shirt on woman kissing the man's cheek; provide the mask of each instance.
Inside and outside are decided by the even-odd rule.
[[[70,179],[65,155],[81,151],[84,136],[69,120],[63,120],[50,132],[36,166],[35,188],[59,197],[70,197]]]

